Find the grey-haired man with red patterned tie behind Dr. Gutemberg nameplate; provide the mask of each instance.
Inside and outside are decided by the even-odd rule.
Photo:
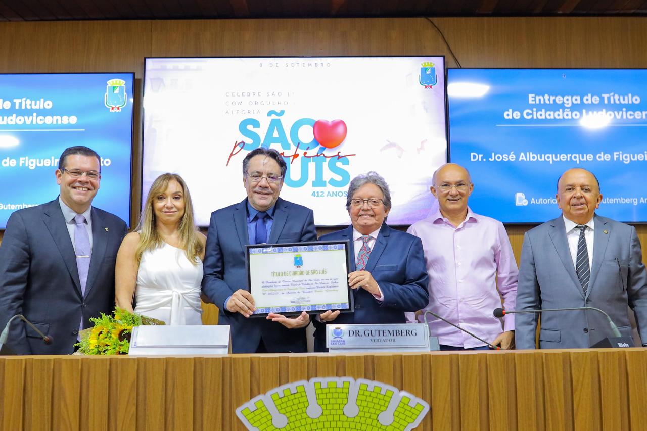
[[[348,188],[346,209],[351,226],[320,240],[351,243],[348,283],[354,289],[355,313],[329,310],[319,315],[314,322],[315,351],[327,351],[327,322],[406,323],[405,311],[418,311],[429,302],[421,239],[386,225],[391,210],[386,181],[373,171],[355,177]]]

